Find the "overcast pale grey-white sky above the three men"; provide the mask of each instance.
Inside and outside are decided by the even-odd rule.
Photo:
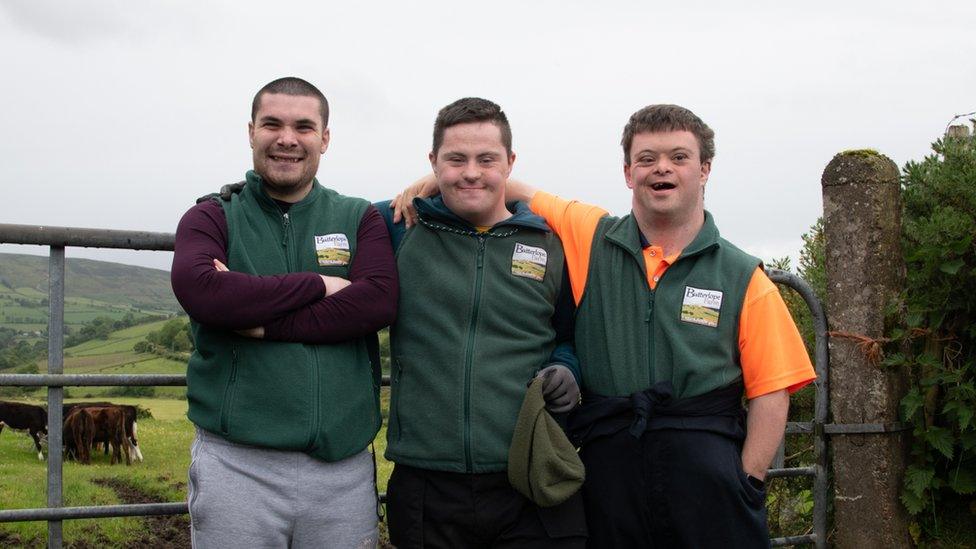
[[[3,0],[0,223],[172,232],[242,178],[253,94],[295,75],[332,105],[319,180],[371,200],[429,170],[437,110],[476,95],[508,113],[515,177],[624,214],[623,125],[678,103],[716,131],[723,236],[796,257],[835,153],[901,167],[976,110],[976,2],[736,4]]]

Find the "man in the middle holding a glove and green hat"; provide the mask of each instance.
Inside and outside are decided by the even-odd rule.
[[[498,105],[441,109],[430,163],[440,196],[406,230],[387,217],[400,273],[391,329],[387,512],[394,545],[582,547],[580,494],[534,505],[506,470],[527,383],[553,412],[578,401],[573,303],[559,238],[524,203],[505,203],[515,161]]]

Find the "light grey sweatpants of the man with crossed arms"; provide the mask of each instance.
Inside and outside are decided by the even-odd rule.
[[[194,547],[373,548],[373,460],[334,463],[229,442],[197,429],[190,447]]]

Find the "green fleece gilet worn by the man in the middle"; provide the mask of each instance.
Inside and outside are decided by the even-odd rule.
[[[439,198],[418,206],[397,250],[386,458],[504,471],[526,386],[555,347],[562,245],[524,205],[480,235]]]

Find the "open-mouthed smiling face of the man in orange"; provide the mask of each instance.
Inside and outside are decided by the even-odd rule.
[[[698,140],[689,131],[635,135],[624,177],[634,192],[638,219],[670,225],[700,223],[710,170],[711,163],[701,162]]]

